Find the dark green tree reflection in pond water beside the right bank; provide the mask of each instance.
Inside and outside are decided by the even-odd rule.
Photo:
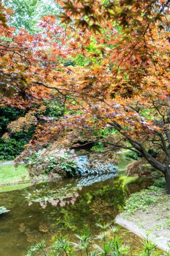
[[[57,226],[60,230],[79,232],[81,228],[91,230],[99,221],[113,221],[123,210],[126,191],[123,182],[115,179],[112,185],[89,188],[77,200],[75,205],[60,208]]]

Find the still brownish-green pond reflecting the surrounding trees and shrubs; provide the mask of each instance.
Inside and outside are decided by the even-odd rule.
[[[84,228],[97,234],[95,223],[112,222],[122,212],[126,197],[146,185],[135,182],[124,187],[120,176],[105,174],[0,193],[0,205],[10,210],[0,216],[0,255],[23,255],[42,239],[50,243],[54,234],[69,234],[73,240]],[[132,235],[131,239],[138,245],[138,238]]]

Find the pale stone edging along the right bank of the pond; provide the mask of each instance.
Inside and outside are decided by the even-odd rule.
[[[116,224],[119,224],[120,226],[128,229],[130,232],[133,232],[137,236],[140,236],[140,238],[146,238],[146,230],[144,230],[143,228],[139,228],[138,225],[136,225],[134,222],[130,222],[129,220],[126,220],[121,216],[117,216],[115,222]],[[150,234],[148,237],[154,239],[154,243],[159,249],[170,252],[170,247],[168,246],[168,238],[166,238],[165,236],[156,236],[155,234]]]

